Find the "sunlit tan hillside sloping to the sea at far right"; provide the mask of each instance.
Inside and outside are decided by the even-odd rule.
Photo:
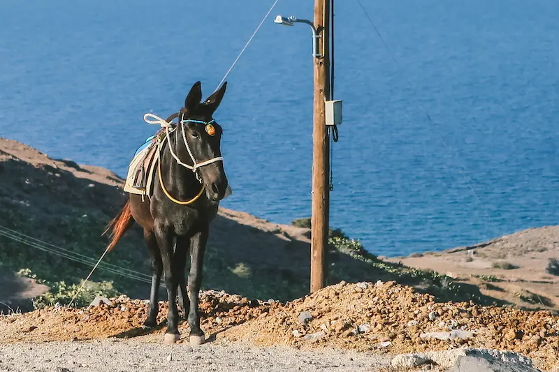
[[[559,309],[559,226],[389,261],[440,271],[456,283],[475,285],[483,295],[521,308]]]

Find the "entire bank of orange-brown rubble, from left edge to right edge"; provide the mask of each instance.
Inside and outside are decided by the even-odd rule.
[[[161,303],[159,322],[166,312]],[[521,352],[540,369],[559,365],[559,317],[547,311],[437,303],[394,282],[342,282],[286,304],[205,291],[201,313],[206,336],[224,342],[390,353],[469,346]],[[0,320],[0,343],[140,336],[146,315],[146,302],[124,296],[112,299],[110,306],[44,308]],[[186,322],[180,331],[187,336]]]

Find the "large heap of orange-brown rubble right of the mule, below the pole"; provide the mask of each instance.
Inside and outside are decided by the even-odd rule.
[[[559,365],[559,317],[547,311],[437,303],[433,296],[395,282],[342,282],[225,335],[257,345],[333,345],[394,353],[496,348],[532,357],[539,368]]]

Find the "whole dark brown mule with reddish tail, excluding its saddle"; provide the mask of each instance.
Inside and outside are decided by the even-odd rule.
[[[184,101],[184,107],[178,113],[179,124],[175,131],[170,133],[160,154],[164,187],[161,187],[159,178],[155,177],[151,201],[147,198],[142,201],[140,195],[130,194],[122,212],[110,224],[110,248],[117,244],[134,221],[144,229],[152,267],[150,306],[144,324],[146,327],[157,325],[159,280],[163,270],[169,301],[164,338],[166,343],[175,342],[180,338],[177,328],[177,288],[184,317],[190,325],[190,342],[199,345],[204,341],[198,314],[198,292],[202,282],[204,251],[210,222],[217,215],[219,200],[224,198],[227,188],[223,162],[216,160],[222,156],[222,128],[213,121],[212,115],[222,101],[226,84],[203,103],[201,83],[194,84]],[[200,166],[195,171],[185,168],[173,158],[169,147],[182,163],[191,167],[195,162],[198,165],[206,161],[210,163]],[[205,192],[201,191],[202,187]],[[201,196],[194,200],[199,193],[202,193]],[[191,200],[194,202],[185,204]],[[177,204],[179,201],[182,204]],[[173,240],[176,241],[174,251]],[[191,256],[188,295],[184,272],[187,253]]]

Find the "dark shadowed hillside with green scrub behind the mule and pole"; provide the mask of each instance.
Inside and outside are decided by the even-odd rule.
[[[30,309],[31,299],[38,306],[68,302],[106,247],[101,233],[126,200],[122,182],[109,170],[49,158],[25,144],[0,138],[0,276],[6,283],[0,288],[0,302],[4,306]],[[301,297],[309,288],[309,235],[307,228],[277,225],[221,209],[211,228],[203,287],[249,298],[287,301]],[[548,240],[546,246],[556,249]],[[551,255],[553,249],[546,254]],[[472,262],[481,262],[484,250],[490,252],[489,246],[476,248]],[[530,254],[537,253],[532,251]],[[472,300],[522,308],[557,306],[557,298],[551,294],[532,303],[518,296],[504,297],[499,290],[488,292],[490,284],[500,285],[481,279],[488,274],[476,276],[477,281],[465,281],[456,276],[456,270],[447,276],[429,266],[424,270],[401,265],[398,260],[379,260],[358,241],[339,232],[331,239],[328,256],[328,283],[395,280],[442,301]],[[446,256],[433,257],[444,260]],[[409,260],[404,260],[405,264],[416,265]],[[449,271],[444,265],[437,270]],[[468,275],[467,269],[464,273]],[[78,297],[78,304],[87,304],[101,293],[146,298],[148,274],[147,252],[136,225],[103,260],[92,283]],[[528,276],[519,278],[531,280]],[[552,276],[542,280],[556,283]]]

